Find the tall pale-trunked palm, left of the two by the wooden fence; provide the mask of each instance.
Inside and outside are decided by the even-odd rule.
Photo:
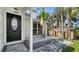
[[[59,22],[60,23],[60,33],[61,33],[61,38],[63,39],[64,38],[64,7],[57,7],[56,8],[56,13],[57,15],[59,16]]]

